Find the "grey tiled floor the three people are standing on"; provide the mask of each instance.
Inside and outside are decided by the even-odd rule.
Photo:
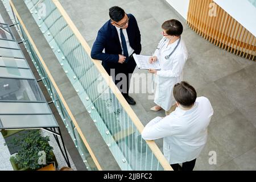
[[[92,46],[98,29],[109,19],[109,7],[121,6],[138,20],[142,54],[150,55],[161,38],[161,24],[180,19],[164,0],[60,0],[82,36]],[[207,145],[197,159],[195,170],[256,170],[256,63],[226,52],[201,38],[183,22],[183,39],[189,59],[184,80],[195,86],[199,96],[213,105]],[[143,71],[135,70],[135,73]],[[146,125],[164,112],[154,113],[148,94],[131,94],[137,101],[135,113]],[[156,141],[162,148],[162,140]],[[215,151],[217,164],[209,164]]]

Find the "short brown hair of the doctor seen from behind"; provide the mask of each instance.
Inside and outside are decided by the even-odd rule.
[[[174,85],[174,98],[185,107],[192,106],[196,101],[196,90],[185,81]]]

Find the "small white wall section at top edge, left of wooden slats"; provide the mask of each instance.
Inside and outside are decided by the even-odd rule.
[[[166,0],[185,20],[187,20],[189,0]]]

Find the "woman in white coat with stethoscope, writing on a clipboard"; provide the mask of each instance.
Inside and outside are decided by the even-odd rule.
[[[183,67],[188,58],[187,48],[181,34],[182,24],[176,20],[167,20],[162,24],[163,38],[160,40],[154,55],[150,57],[150,63],[159,60],[160,71],[149,69],[150,73],[155,73],[155,99],[156,106],[150,110],[166,110],[166,115],[175,109],[175,100],[172,89],[177,82],[183,80]]]

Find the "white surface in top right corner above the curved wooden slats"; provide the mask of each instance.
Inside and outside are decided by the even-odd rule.
[[[247,0],[213,0],[218,6],[256,36],[256,8]]]

